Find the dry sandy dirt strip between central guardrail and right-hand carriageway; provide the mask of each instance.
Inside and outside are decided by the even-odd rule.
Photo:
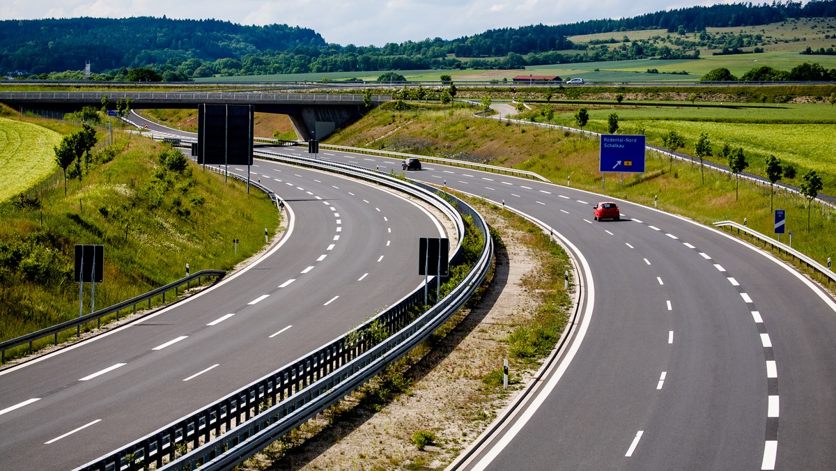
[[[533,376],[537,362],[513,371],[512,386],[483,381],[502,370],[507,335],[538,309],[525,280],[537,274],[540,258],[498,211],[480,212],[505,247],[497,245],[490,288],[463,310],[443,337],[431,339],[408,374],[412,385],[384,405],[354,393],[298,431],[244,463],[242,469],[420,469],[444,468],[497,416]],[[417,432],[434,439],[423,450]]]

